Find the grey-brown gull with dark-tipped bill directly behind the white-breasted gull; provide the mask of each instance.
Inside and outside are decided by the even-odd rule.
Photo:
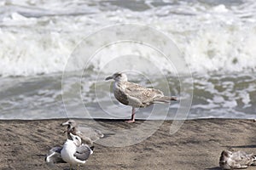
[[[70,139],[69,133],[78,135],[84,144],[92,145],[97,139],[103,138],[104,134],[96,129],[90,127],[81,127],[78,126],[77,122],[74,120],[68,120],[67,122],[61,123],[61,126],[67,126],[67,130],[64,133],[67,133],[67,137]]]

